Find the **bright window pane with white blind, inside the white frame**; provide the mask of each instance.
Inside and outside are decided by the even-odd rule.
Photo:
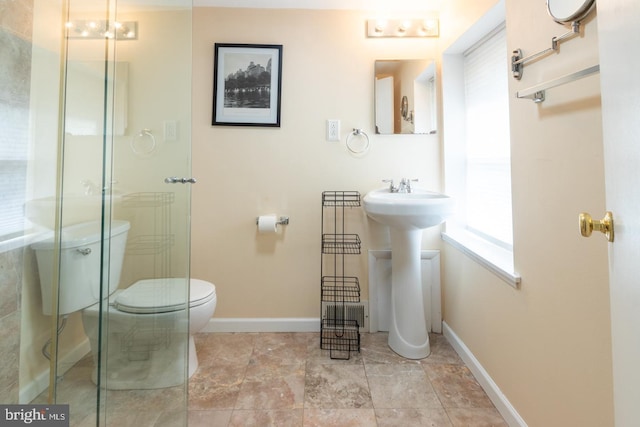
[[[464,53],[465,223],[512,248],[508,69],[504,26]]]

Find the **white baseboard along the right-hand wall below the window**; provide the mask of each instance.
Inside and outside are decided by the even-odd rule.
[[[469,350],[446,322],[442,322],[442,331],[445,338],[447,338],[453,349],[460,355],[460,358],[476,377],[478,383],[487,393],[487,396],[489,396],[489,399],[491,399],[491,402],[493,402],[507,424],[511,427],[527,427],[527,423],[522,419],[520,414],[518,414],[502,391],[500,391],[500,388],[498,388],[498,385],[489,376],[489,373],[482,367],[478,359],[471,353],[471,350]]]

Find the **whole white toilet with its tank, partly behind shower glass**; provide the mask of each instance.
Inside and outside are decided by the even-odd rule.
[[[111,238],[107,241],[111,249],[109,295],[108,304],[102,304],[102,314],[98,273],[101,224],[92,221],[62,229],[59,313],[82,311],[96,366],[92,374],[96,384],[112,390],[183,384],[185,370],[190,377],[198,367],[193,334],[207,325],[215,311],[215,286],[190,279],[189,301],[186,301],[185,278],[144,279],[119,289],[129,227],[127,221],[111,223]],[[32,248],[40,273],[43,313],[51,315],[54,241],[46,239],[34,243]],[[103,328],[99,322],[101,315],[105,320]],[[106,334],[102,346],[99,345],[101,329]],[[103,359],[98,360],[99,357]],[[99,363],[106,366],[101,378],[97,377]]]

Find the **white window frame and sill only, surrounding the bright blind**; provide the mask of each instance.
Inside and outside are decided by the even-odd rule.
[[[442,93],[444,121],[445,192],[457,202],[456,217],[448,220],[443,239],[476,262],[495,273],[513,287],[520,284],[514,270],[513,248],[505,247],[471,232],[466,226],[466,148],[465,127],[461,124],[465,114],[464,53],[504,25],[504,1],[500,1],[476,24],[465,32],[443,54]],[[505,59],[505,64],[506,64]],[[508,70],[505,69],[505,72]]]

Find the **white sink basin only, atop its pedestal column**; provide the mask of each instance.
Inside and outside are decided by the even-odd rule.
[[[424,229],[442,224],[453,214],[451,197],[424,189],[392,193],[381,188],[367,193],[364,210],[374,220],[395,228]]]

